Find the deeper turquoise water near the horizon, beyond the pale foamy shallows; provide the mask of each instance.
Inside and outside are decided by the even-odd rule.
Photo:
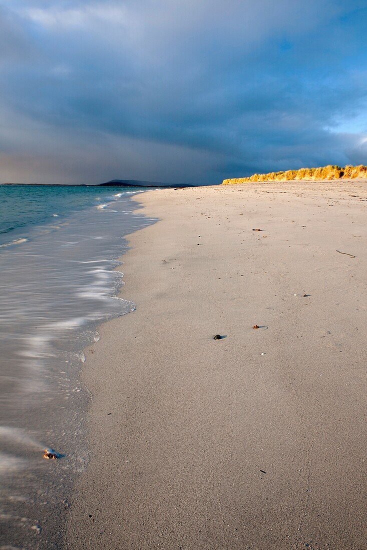
[[[121,188],[0,185],[0,245],[26,238],[36,224],[55,222],[57,217],[100,204],[117,191]]]

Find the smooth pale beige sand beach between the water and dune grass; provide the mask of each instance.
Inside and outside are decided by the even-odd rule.
[[[367,184],[139,201],[67,547],[365,550]]]

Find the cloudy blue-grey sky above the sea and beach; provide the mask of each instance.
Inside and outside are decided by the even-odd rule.
[[[367,164],[365,0],[2,0],[0,183]]]

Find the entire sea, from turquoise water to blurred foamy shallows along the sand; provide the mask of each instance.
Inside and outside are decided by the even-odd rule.
[[[98,327],[134,310],[117,296],[125,235],[153,219],[142,190],[0,186],[0,547],[62,548],[88,464],[80,383]],[[43,449],[62,458],[44,460]],[[3,545],[3,546],[1,546]]]

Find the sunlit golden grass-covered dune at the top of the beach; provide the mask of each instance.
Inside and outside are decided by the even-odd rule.
[[[248,178],[225,179],[223,185],[233,185],[248,182],[288,182],[289,180],[317,180],[324,179],[355,179],[367,178],[367,166],[323,166],[321,168],[300,168],[287,172],[269,172],[268,174],[253,174]]]

